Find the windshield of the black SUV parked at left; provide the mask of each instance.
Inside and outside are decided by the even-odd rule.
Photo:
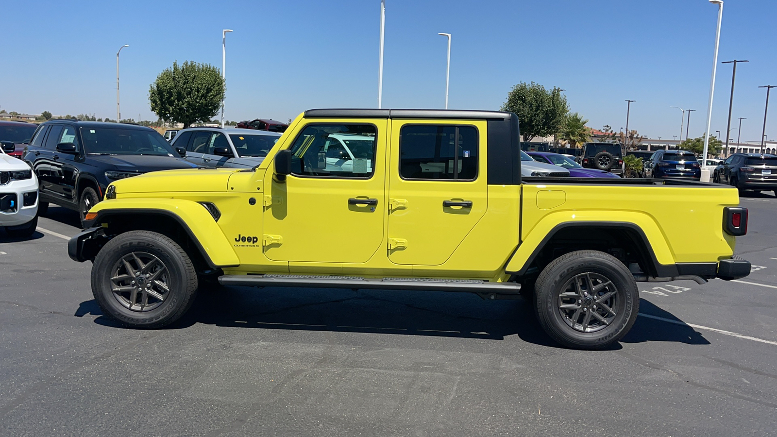
[[[172,146],[149,129],[81,128],[88,155],[177,156]]]

